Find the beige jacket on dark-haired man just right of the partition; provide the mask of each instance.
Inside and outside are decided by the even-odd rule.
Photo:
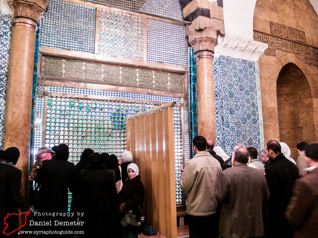
[[[181,174],[180,186],[186,193],[187,214],[208,216],[217,212],[216,192],[221,165],[209,152],[198,152]]]

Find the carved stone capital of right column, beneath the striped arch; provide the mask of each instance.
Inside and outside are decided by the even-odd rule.
[[[214,18],[199,16],[185,27],[185,34],[195,54],[200,50],[214,52],[219,33],[225,33],[224,23]]]

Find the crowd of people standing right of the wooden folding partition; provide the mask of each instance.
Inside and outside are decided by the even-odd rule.
[[[195,136],[180,180],[190,238],[318,237],[318,143],[297,149],[297,162],[274,140],[259,152],[237,144],[228,156]]]

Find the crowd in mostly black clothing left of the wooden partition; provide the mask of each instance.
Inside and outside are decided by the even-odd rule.
[[[17,208],[21,211],[35,211],[19,192],[21,172],[14,166],[19,158],[19,150],[8,148],[0,156],[1,216],[17,212]],[[68,157],[69,148],[66,144],[52,149],[40,148],[35,156],[36,162],[32,166],[29,180],[38,184],[39,204],[36,209],[38,214],[44,214],[33,217],[35,224],[52,220],[53,213],[68,211],[69,189],[72,192],[72,219],[83,221],[80,223],[82,226],[77,229],[84,231],[84,234],[77,237],[137,238],[135,230],[120,225],[120,221],[130,210],[133,214],[142,216],[145,190],[138,166],[132,163],[132,153],[125,151],[118,160],[116,155],[99,154],[86,148],[76,165],[68,162]],[[7,194],[8,189],[15,194]],[[58,219],[69,220],[67,217]],[[2,225],[1,228],[4,229]],[[50,230],[52,224],[42,226],[41,229]],[[55,226],[54,229],[65,228]],[[17,231],[15,233],[17,237]]]

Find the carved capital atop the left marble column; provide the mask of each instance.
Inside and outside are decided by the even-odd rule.
[[[13,12],[13,18],[25,17],[39,22],[43,17],[47,0],[8,0],[8,4]]]

